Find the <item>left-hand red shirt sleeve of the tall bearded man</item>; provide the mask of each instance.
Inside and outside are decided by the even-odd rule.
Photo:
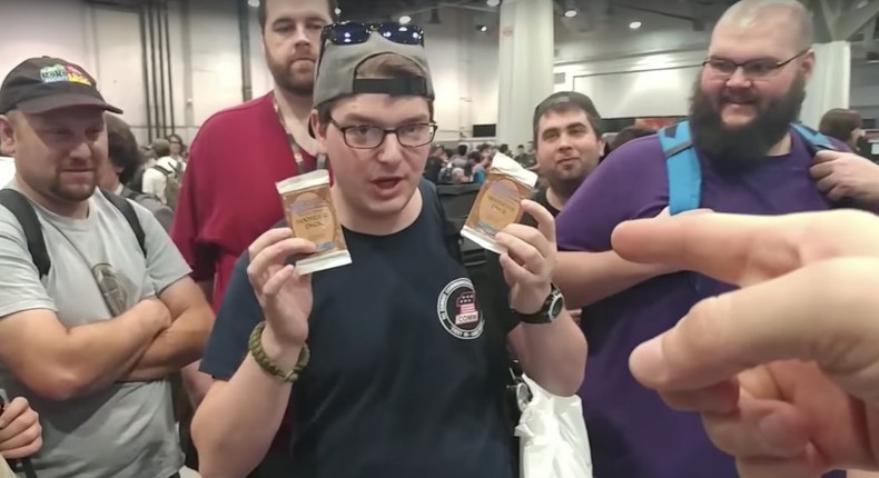
[[[207,202],[213,198],[213,195],[204,191],[206,185],[210,183],[210,178],[205,177],[210,166],[207,150],[209,139],[199,133],[192,141],[171,227],[171,238],[192,269],[192,279],[196,281],[214,279],[218,253],[216,247],[205,242],[201,237],[211,206]]]

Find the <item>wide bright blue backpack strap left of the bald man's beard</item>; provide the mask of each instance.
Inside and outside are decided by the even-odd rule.
[[[662,128],[658,136],[669,173],[669,211],[676,215],[699,208],[702,168],[690,137],[690,122]]]

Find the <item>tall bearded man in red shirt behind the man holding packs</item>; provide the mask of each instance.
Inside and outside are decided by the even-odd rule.
[[[320,31],[334,20],[335,2],[263,0],[258,17],[275,87],[260,98],[214,114],[201,126],[190,149],[171,230],[215,310],[238,256],[284,217],[275,182],[324,167],[308,133],[308,117]],[[204,396],[210,381],[201,375],[199,397],[194,401]],[[195,466],[194,460],[187,462]]]

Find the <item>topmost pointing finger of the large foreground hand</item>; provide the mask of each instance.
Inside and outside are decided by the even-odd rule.
[[[787,216],[679,215],[623,222],[613,249],[633,262],[665,263],[748,286],[846,255],[879,256],[879,219],[855,210]]]

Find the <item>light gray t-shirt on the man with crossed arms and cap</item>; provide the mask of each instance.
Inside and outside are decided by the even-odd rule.
[[[68,328],[111,319],[92,269],[105,285],[116,277],[115,296],[126,309],[187,277],[188,266],[156,218],[134,205],[146,259],[125,217],[99,191],[82,220],[34,206],[52,261],[42,281],[21,226],[0,207],[0,317],[50,309]],[[43,447],[33,457],[40,478],[168,478],[182,467],[168,380],[118,382],[58,402],[28,389],[0,364],[0,388],[26,397],[40,414]]]

